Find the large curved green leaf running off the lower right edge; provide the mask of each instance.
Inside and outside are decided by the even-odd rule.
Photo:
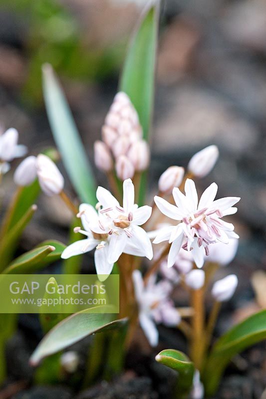
[[[204,370],[204,385],[207,395],[213,395],[221,376],[238,353],[266,339],[266,310],[252,315],[233,327],[215,344]]]

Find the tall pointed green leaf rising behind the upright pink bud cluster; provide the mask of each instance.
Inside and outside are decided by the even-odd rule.
[[[154,104],[159,5],[159,0],[148,2],[129,45],[120,80],[120,90],[127,93],[136,108],[147,141]],[[144,202],[146,180],[144,173],[140,180],[140,205]]]

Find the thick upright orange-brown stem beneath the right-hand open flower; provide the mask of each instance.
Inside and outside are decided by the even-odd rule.
[[[205,348],[204,334],[204,289],[192,290],[192,307],[194,308],[194,317],[192,318],[192,337],[191,337],[191,359],[195,367],[201,370]]]

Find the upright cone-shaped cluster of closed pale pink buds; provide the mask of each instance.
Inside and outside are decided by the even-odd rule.
[[[115,168],[117,177],[122,181],[133,178],[135,172],[147,169],[149,146],[142,139],[138,114],[123,92],[116,94],[105,118],[102,140],[94,144],[94,160],[98,169],[110,172]]]

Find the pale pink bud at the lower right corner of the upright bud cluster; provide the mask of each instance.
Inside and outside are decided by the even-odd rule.
[[[150,149],[145,140],[133,143],[127,153],[128,159],[137,172],[145,171],[150,163]]]

